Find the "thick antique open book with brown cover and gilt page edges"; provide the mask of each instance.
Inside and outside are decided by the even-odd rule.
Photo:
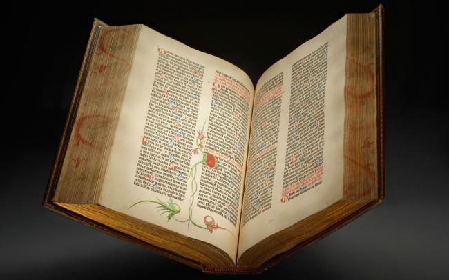
[[[383,199],[382,7],[254,86],[95,20],[44,205],[209,272],[258,272]]]

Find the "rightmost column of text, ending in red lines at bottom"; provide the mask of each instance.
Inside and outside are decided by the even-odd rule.
[[[321,184],[327,43],[292,66],[282,203]]]

